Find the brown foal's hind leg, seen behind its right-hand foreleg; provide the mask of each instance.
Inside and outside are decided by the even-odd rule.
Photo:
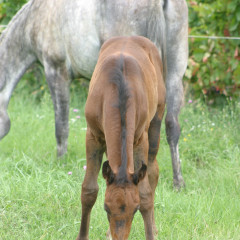
[[[153,194],[155,193],[158,178],[159,178],[159,167],[157,163],[157,153],[160,142],[160,128],[162,122],[163,111],[159,114],[158,112],[152,119],[150,123],[150,127],[148,129],[148,142],[149,142],[149,150],[148,150],[148,180],[150,186],[152,188]],[[154,197],[154,195],[153,195]],[[155,224],[154,212],[153,212],[153,230],[154,233],[157,234],[157,227]]]

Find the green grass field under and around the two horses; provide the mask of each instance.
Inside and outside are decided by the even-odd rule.
[[[209,109],[200,102],[186,102],[180,115],[179,147],[186,182],[181,192],[172,188],[165,125],[161,129],[156,239],[239,240],[240,104]],[[75,239],[86,164],[84,97],[73,96],[68,154],[61,160],[56,158],[48,93],[38,104],[30,95],[14,94],[8,112],[11,131],[0,142],[0,239]],[[108,229],[101,174],[99,187],[91,215],[92,240],[106,239]],[[140,213],[134,217],[129,239],[145,239]]]

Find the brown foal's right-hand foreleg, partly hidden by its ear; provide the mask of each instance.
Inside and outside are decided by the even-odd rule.
[[[147,133],[143,134],[143,138],[139,145],[136,147],[138,151],[138,157],[145,159],[147,163],[148,155],[148,135]],[[147,240],[154,239],[153,232],[153,191],[149,184],[148,174],[144,177],[138,185],[139,196],[140,196],[140,212],[144,220],[145,236]]]

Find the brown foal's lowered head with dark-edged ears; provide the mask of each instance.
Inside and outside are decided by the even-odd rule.
[[[113,240],[126,240],[130,233],[134,214],[140,208],[138,183],[146,174],[147,166],[142,164],[134,174],[115,175],[106,161],[103,177],[107,182],[104,209],[107,212]]]

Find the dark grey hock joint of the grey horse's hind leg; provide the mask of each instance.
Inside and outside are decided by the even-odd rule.
[[[173,113],[167,113],[165,124],[168,144],[174,143],[176,145],[180,136],[180,126],[177,116],[174,116]]]

